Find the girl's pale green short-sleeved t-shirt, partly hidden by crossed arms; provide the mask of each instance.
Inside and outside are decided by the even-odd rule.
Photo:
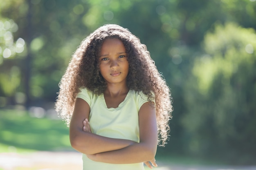
[[[94,94],[86,88],[81,89],[77,97],[84,99],[90,106],[92,133],[139,142],[139,108],[148,102],[148,97],[142,92],[130,90],[117,108],[107,108],[103,94]],[[83,154],[83,170],[144,170],[144,165],[95,162]]]

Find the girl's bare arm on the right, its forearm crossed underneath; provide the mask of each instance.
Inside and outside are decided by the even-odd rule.
[[[93,161],[105,163],[139,163],[152,161],[157,150],[157,122],[155,108],[149,102],[139,110],[140,142],[119,150],[88,155]]]

